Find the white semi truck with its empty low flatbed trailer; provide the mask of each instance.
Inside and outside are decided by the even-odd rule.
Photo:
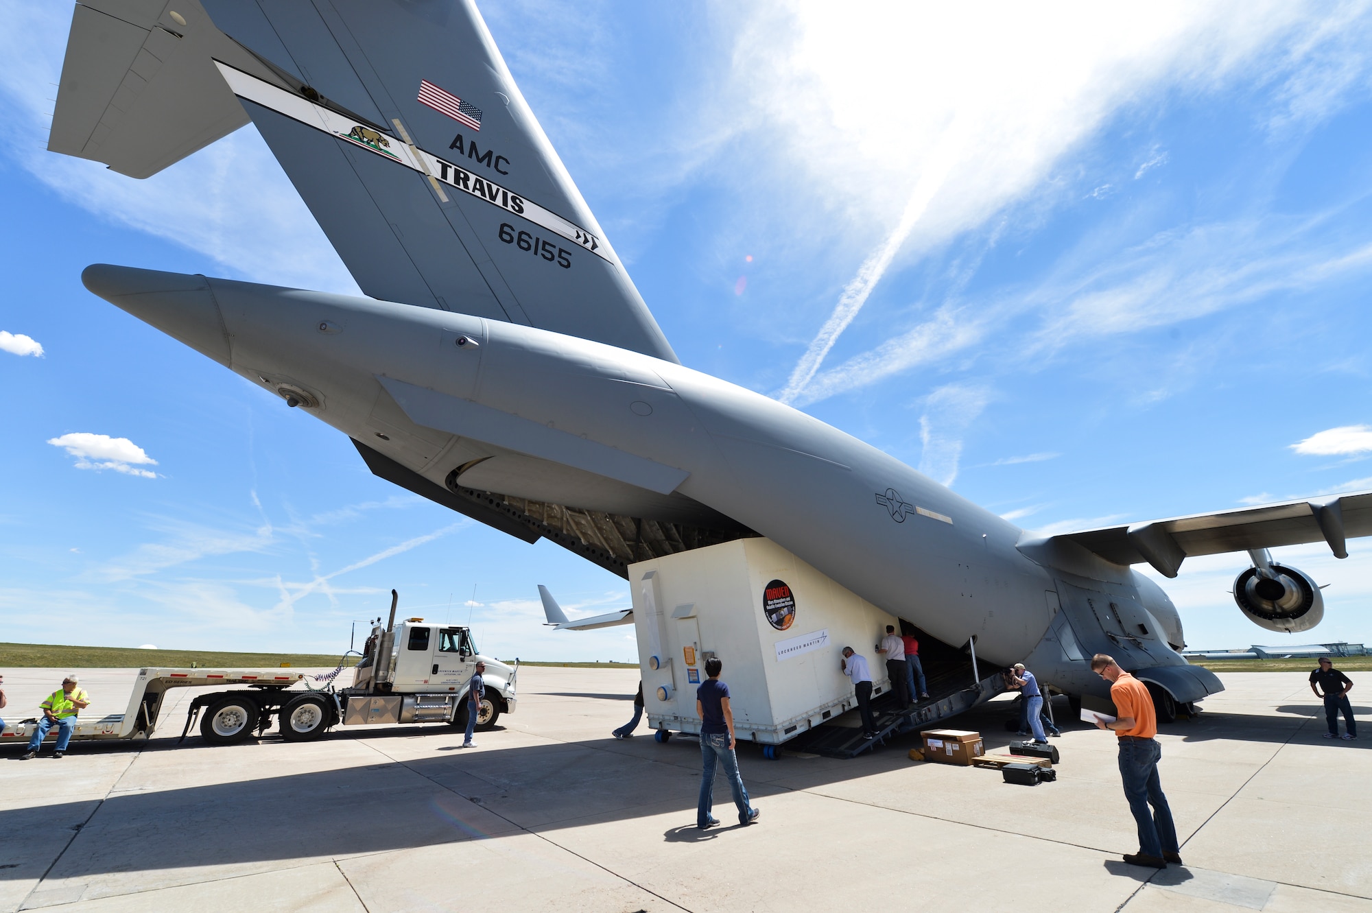
[[[73,740],[113,742],[152,736],[167,691],[187,687],[247,685],[229,691],[199,694],[187,710],[185,739],[196,720],[200,735],[211,744],[233,744],[265,733],[274,721],[289,742],[318,739],[332,727],[409,725],[442,722],[466,725],[466,688],[477,662],[486,696],[476,716],[480,729],[490,729],[501,714],[514,713],[519,659],[506,665],[479,654],[471,631],[461,625],[428,624],[407,618],[395,624],[397,594],[391,591],[391,617],[383,628],[373,622],[361,661],[351,668],[353,684],[339,688],[336,679],[350,672],[343,664],[332,673],[311,676],[287,669],[166,669],[147,668],[129,696],[122,714],[99,720],[77,720]],[[303,684],[303,688],[296,685]],[[37,718],[7,725],[0,744],[27,742]],[[56,729],[49,735],[56,738]]]

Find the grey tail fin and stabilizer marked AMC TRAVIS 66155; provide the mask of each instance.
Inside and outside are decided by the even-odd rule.
[[[366,295],[676,361],[472,0],[86,3],[49,149],[148,177],[251,118]]]

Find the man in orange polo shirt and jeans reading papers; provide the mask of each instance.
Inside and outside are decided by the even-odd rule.
[[[1181,865],[1177,828],[1172,823],[1172,809],[1168,806],[1168,796],[1162,795],[1162,781],[1158,779],[1162,746],[1152,738],[1158,735],[1152,695],[1146,684],[1103,653],[1091,658],[1091,670],[1110,683],[1110,699],[1114,701],[1118,717],[1113,722],[1098,717],[1096,727],[1111,729],[1120,736],[1124,795],[1129,799],[1129,810],[1139,825],[1139,851],[1126,853],[1124,861],[1155,869],[1165,869],[1168,862]]]

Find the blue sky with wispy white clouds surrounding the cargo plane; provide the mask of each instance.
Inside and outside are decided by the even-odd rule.
[[[1372,488],[1367,4],[482,8],[687,365],[1032,529]],[[251,126],[148,181],[45,152],[70,10],[0,8],[3,639],[335,651],[395,587],[502,657],[635,658],[539,626],[535,584],[575,616],[619,577],[84,291],[355,285]],[[1368,548],[1279,551],[1329,584],[1298,639],[1372,640]],[[1244,566],[1165,581],[1192,646],[1279,642]]]

